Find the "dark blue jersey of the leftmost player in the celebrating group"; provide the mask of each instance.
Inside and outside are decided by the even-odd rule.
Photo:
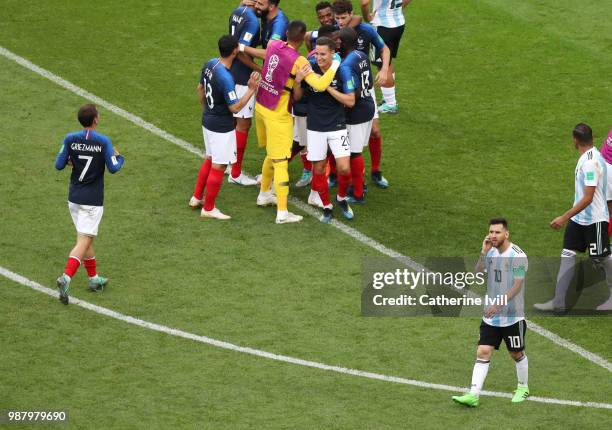
[[[228,106],[238,103],[234,78],[219,58],[213,58],[202,68],[200,84],[204,87],[202,125],[216,133],[234,130],[234,116]]]

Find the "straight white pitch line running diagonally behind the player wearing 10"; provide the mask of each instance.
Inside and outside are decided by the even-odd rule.
[[[155,134],[156,136],[161,137],[162,139],[173,143],[174,145],[177,145],[178,147],[189,151],[193,154],[196,154],[200,157],[202,157],[202,151],[200,151],[199,149],[197,149],[195,146],[193,146],[192,144],[190,144],[189,142],[186,142],[183,139],[180,139],[170,133],[168,133],[165,130],[160,129],[159,127],[157,127],[154,124],[151,124],[150,122],[145,121],[144,119],[140,118],[139,116],[136,116],[124,109],[121,109],[118,106],[115,106],[114,104],[107,102],[106,100],[84,90],[83,88],[80,88],[76,85],[74,85],[73,83],[55,75],[54,73],[51,73],[50,71],[43,69],[42,67],[37,66],[36,64],[32,63],[31,61],[26,60],[23,57],[20,57],[17,54],[14,54],[13,52],[7,50],[6,48],[0,46],[0,55],[2,55],[3,57],[14,61],[15,63],[19,64],[20,66],[25,67],[28,70],[31,70],[32,72],[47,78],[48,80],[50,80],[51,82],[54,82],[55,84],[67,89],[68,91],[71,91],[99,106],[102,106],[106,109],[108,109],[109,111],[117,114],[118,116],[132,122],[133,124],[137,125],[138,127],[141,127],[145,130],[150,131],[151,133]],[[304,212],[308,213],[309,215],[318,218],[320,216],[320,213],[316,210],[313,209],[312,207],[308,206],[306,203],[296,199],[295,197],[290,197],[290,202],[295,205],[296,207],[298,207],[299,209],[303,210]],[[400,261],[401,263],[407,265],[408,267],[412,268],[413,270],[426,270],[426,268],[424,268],[422,265],[420,265],[419,263],[417,263],[416,261],[414,261],[413,259],[411,259],[410,257],[407,257],[403,254],[400,254],[397,251],[394,251],[388,247],[386,247],[385,245],[383,245],[380,242],[377,242],[376,240],[366,236],[365,234],[355,230],[352,227],[347,226],[346,224],[343,224],[340,221],[334,220],[332,221],[332,225],[337,228],[338,230],[340,230],[342,233],[352,237],[353,239],[357,240],[358,242],[363,243],[364,245],[367,245],[375,250],[377,250],[378,252],[380,252],[381,254],[384,254],[388,257],[394,258],[398,261]],[[607,369],[608,371],[612,372],[612,363],[610,363],[609,361],[607,361],[606,359],[604,359],[603,357],[592,353],[590,351],[587,351],[586,349],[570,342],[567,339],[563,339],[562,337],[556,335],[555,333],[546,330],[545,328],[539,326],[538,324],[529,321],[529,328],[531,330],[533,330],[535,333],[538,333],[539,335],[547,338],[548,340],[550,340],[551,342],[566,348],[572,352],[575,352],[576,354],[582,356],[583,358],[589,360],[592,363],[597,364],[598,366],[603,367],[604,369]]]

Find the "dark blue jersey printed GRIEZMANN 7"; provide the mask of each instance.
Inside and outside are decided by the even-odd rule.
[[[55,168],[62,170],[72,161],[68,201],[79,205],[104,205],[104,171],[116,173],[125,162],[115,157],[110,139],[94,130],[68,133],[55,158]]]

